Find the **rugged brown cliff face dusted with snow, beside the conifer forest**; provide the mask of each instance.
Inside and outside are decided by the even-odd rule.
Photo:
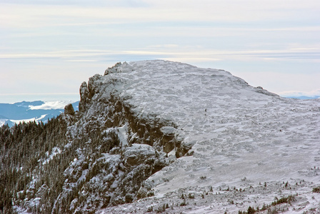
[[[128,86],[116,77],[121,66],[129,65],[117,63],[104,76],[96,74],[82,83],[79,112],[67,105],[61,115],[67,123],[68,143],[58,143],[59,153],[52,158],[66,153],[69,158],[54,203],[38,197],[41,188],[46,193],[52,189],[35,178],[28,194],[15,198],[16,209],[86,213],[154,195],[144,180],[189,151],[191,147],[183,146],[177,137],[173,121],[143,113],[128,102],[128,96],[121,96],[121,89]]]

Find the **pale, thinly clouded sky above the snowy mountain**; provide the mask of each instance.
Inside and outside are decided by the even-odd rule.
[[[319,0],[0,0],[0,103],[79,100],[121,61],[219,68],[320,95]]]

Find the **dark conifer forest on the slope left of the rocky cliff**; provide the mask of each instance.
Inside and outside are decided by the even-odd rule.
[[[62,173],[69,164],[69,154],[59,153],[59,148],[65,144],[66,121],[61,116],[46,124],[30,122],[19,123],[12,128],[1,126],[0,213],[13,212],[13,195],[23,200],[34,194],[26,189],[28,183],[32,183],[35,189],[41,186],[51,189],[43,191],[42,195],[39,193],[39,196],[44,199],[41,201],[46,201],[44,208],[52,207],[54,200],[51,199],[61,192],[64,181]],[[39,164],[48,159],[48,151],[56,151],[53,154],[55,158],[50,164]]]

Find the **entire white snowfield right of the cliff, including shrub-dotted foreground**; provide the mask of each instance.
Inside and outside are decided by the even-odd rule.
[[[119,82],[114,93],[138,112],[176,123],[176,137],[193,146],[191,156],[146,181],[154,197],[101,213],[145,213],[166,203],[167,213],[238,213],[288,195],[295,202],[282,211],[320,212],[320,194],[312,193],[320,184],[319,99],[281,98],[227,71],[170,61],[111,70],[99,81]]]

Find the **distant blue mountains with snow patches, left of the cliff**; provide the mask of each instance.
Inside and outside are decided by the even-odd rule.
[[[64,112],[64,106],[69,104],[69,101],[22,101],[19,103],[0,103],[0,126],[8,124],[14,126],[19,122],[44,122],[49,118],[58,116]],[[78,110],[79,101],[72,103],[74,110]]]

